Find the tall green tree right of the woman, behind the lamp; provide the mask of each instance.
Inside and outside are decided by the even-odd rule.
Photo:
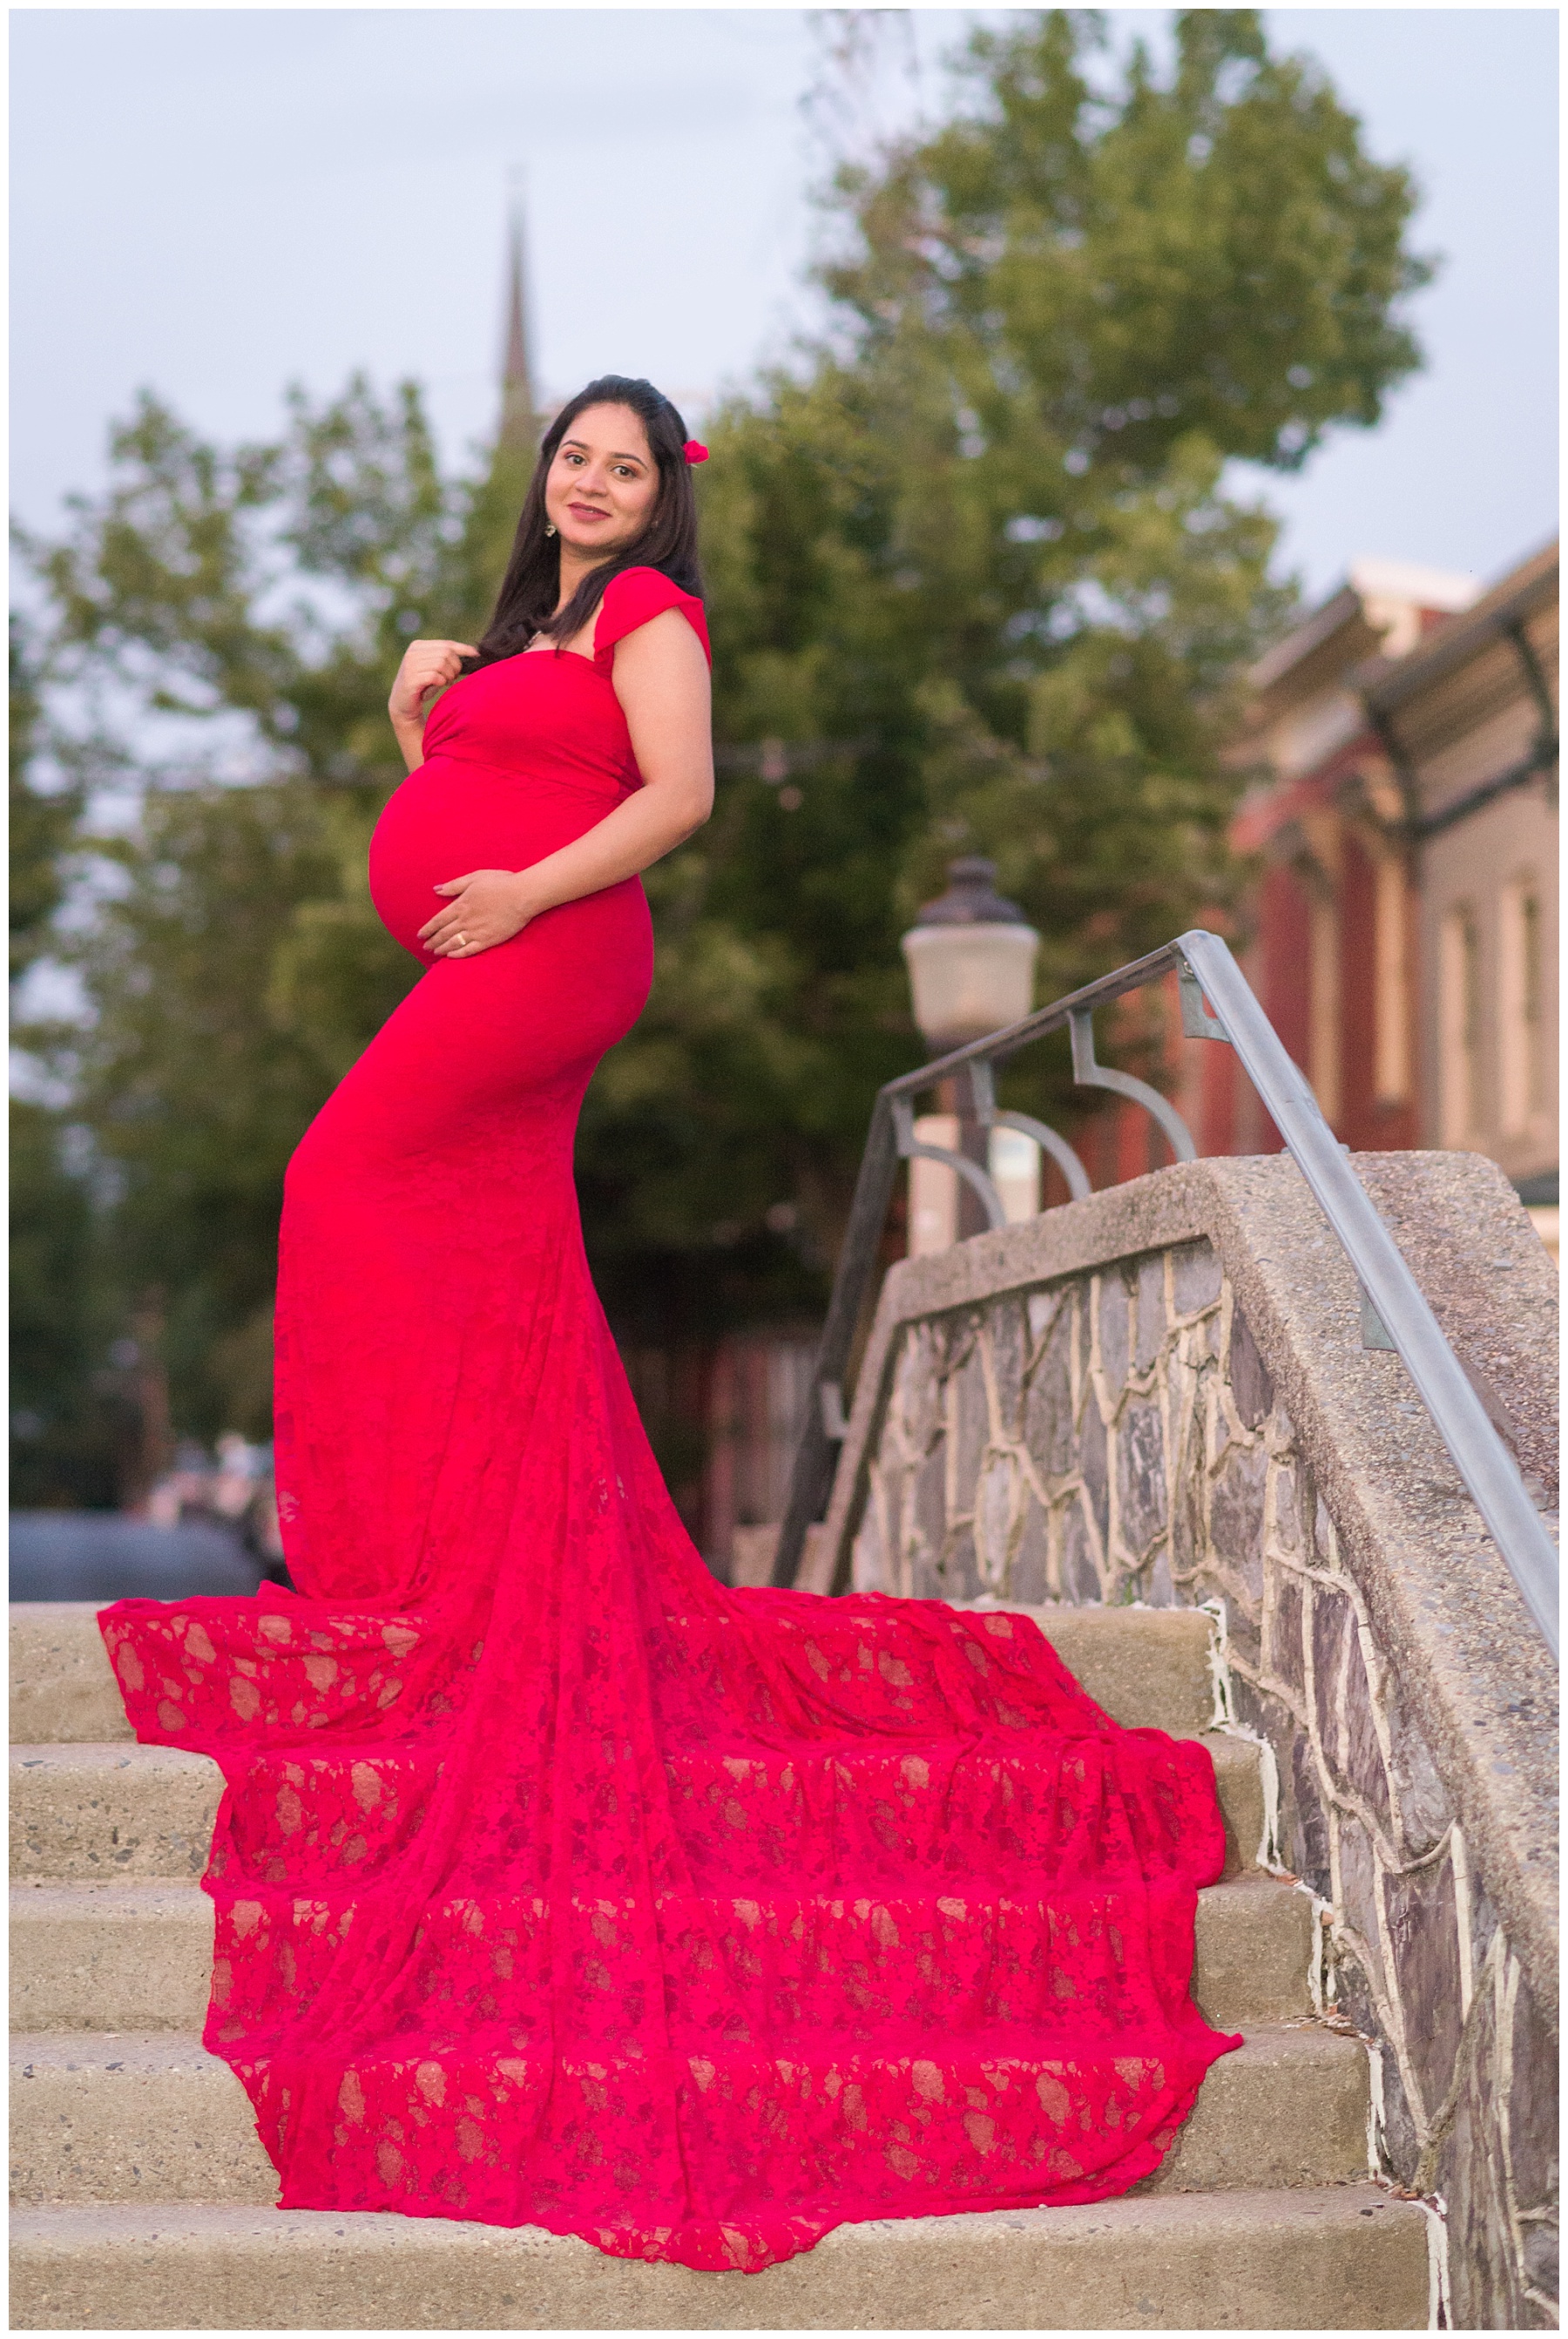
[[[1165,80],[1098,16],[1030,14],[969,82],[840,175],[833,346],[709,430],[718,734],[840,751],[789,795],[737,781],[660,879],[681,975],[744,943],[770,1090],[728,1146],[690,1090],[665,1174],[693,1219],[800,1198],[819,1256],[915,1053],[896,938],[950,854],[999,863],[1044,996],[1224,903],[1229,678],[1290,608],[1224,468],[1374,423],[1428,274],[1407,173],[1254,12],[1177,16]]]

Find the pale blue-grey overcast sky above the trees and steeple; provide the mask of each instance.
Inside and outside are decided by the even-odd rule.
[[[997,14],[997,12],[988,12]],[[1158,42],[1170,19],[1119,9]],[[700,412],[810,327],[828,138],[943,101],[974,16],[889,23],[859,115],[803,108],[784,9],[19,9],[12,14],[12,503],[103,477],[154,386],[222,437],[363,365],[419,377],[452,456],[496,407],[508,178],[527,173],[538,374],[651,374]],[[1425,192],[1430,353],[1374,435],[1290,482],[1285,566],[1362,552],[1498,575],[1556,524],[1556,14],[1282,9],[1378,159]]]

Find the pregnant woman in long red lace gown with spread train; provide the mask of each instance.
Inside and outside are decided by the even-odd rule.
[[[1203,1747],[1025,1619],[714,1584],[592,1291],[578,1106],[648,994],[637,872],[711,802],[700,458],[592,384],[480,650],[410,648],[370,882],[426,973],[283,1202],[297,1591],[103,1635],[138,1738],[227,1780],[206,2044],[286,2208],[754,2271],[1123,2192],[1236,2042],[1189,1998]]]

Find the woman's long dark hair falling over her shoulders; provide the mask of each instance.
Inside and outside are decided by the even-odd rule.
[[[658,463],[658,496],[648,515],[648,526],[637,543],[625,545],[599,568],[590,568],[566,608],[557,613],[555,601],[562,589],[562,540],[545,536],[545,477],[557,447],[585,407],[630,407],[648,433],[648,451]],[[480,655],[463,660],[466,674],[494,667],[498,657],[515,657],[527,650],[536,634],[555,641],[571,641],[599,601],[611,578],[623,568],[660,568],[681,592],[702,592],[697,568],[697,498],[690,487],[690,463],[686,461],[686,423],[662,391],[651,381],[630,381],[625,374],[601,374],[585,391],[569,398],[545,430],[538,447],[538,463],[522,503],[513,557],[506,564],[501,592],[489,625],[480,636]]]

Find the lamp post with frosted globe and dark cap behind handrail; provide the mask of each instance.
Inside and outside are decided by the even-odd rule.
[[[948,891],[929,901],[903,936],[915,1022],[931,1055],[1020,1022],[1034,1006],[1039,933],[1016,903],[1002,901],[995,877],[995,861],[950,861]],[[1006,1200],[1006,1165],[992,1158],[988,1132],[976,1120],[969,1078],[943,1081],[938,1102],[941,1125],[924,1141],[964,1153],[990,1167],[992,1177],[1002,1172]],[[999,1130],[995,1137],[1013,1146],[1030,1144],[1027,1137],[1013,1139],[1013,1132]],[[1023,1162],[1023,1184],[1030,1179],[1039,1179],[1034,1153]],[[1018,1216],[1027,1216],[1027,1207]],[[953,1240],[978,1235],[983,1226],[985,1216],[967,1181],[941,1162],[910,1162],[910,1251],[945,1249]]]

